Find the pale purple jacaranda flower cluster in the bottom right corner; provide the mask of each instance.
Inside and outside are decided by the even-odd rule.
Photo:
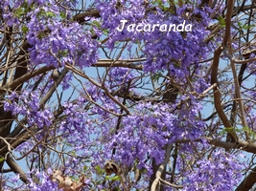
[[[244,163],[232,154],[222,150],[214,152],[208,159],[196,161],[195,169],[184,182],[184,191],[192,190],[232,190],[242,179]]]

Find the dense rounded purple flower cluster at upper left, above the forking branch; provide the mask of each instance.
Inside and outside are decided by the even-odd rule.
[[[46,12],[46,13],[45,13]],[[88,29],[76,22],[52,18],[47,12],[50,8],[37,8],[31,12],[32,19],[28,23],[28,42],[34,45],[30,50],[33,64],[54,65],[65,64],[88,67],[98,58],[98,43],[91,38]]]

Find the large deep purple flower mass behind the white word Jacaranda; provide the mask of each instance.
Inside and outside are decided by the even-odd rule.
[[[122,2],[122,1],[121,1]],[[110,3],[110,5],[109,5]],[[185,15],[185,10],[189,7],[177,9],[175,13],[167,13],[159,8],[150,11],[141,6],[137,9],[137,5],[132,1],[127,5],[122,4],[120,8],[114,6],[115,1],[98,2],[99,11],[103,18],[102,27],[109,30],[110,39],[107,44],[113,49],[114,43],[120,40],[131,39],[143,41],[145,44],[144,53],[147,55],[145,63],[146,72],[156,72],[159,70],[171,70],[172,74],[178,74],[178,77],[184,77],[187,74],[187,67],[193,62],[198,61],[198,57],[203,57],[207,53],[207,45],[204,43],[204,38],[208,34],[205,31],[205,26],[209,23],[210,9],[195,9],[191,15],[199,14],[200,22],[191,16],[188,19]],[[111,6],[112,5],[112,6]],[[146,17],[147,15],[147,17]],[[128,32],[126,29],[122,32],[116,30],[120,25],[121,20],[128,20],[128,24],[180,24],[184,20],[187,24],[193,25],[192,32]],[[128,25],[127,24],[127,25]],[[177,62],[180,62],[177,64]]]

